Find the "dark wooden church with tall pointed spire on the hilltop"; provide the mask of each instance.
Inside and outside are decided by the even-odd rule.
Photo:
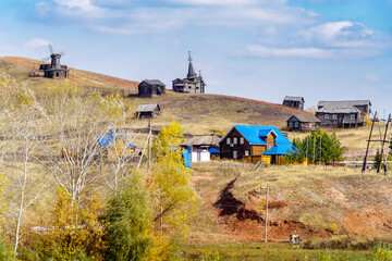
[[[188,73],[186,78],[176,78],[173,80],[172,89],[176,92],[187,92],[187,94],[204,94],[206,84],[201,77],[201,73],[199,75],[195,73],[195,69],[192,64],[192,57],[189,52],[188,58]]]

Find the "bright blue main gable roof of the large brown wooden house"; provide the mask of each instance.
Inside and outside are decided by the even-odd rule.
[[[277,145],[293,145],[275,126],[258,126],[258,125],[234,125],[231,129],[223,136],[219,141],[222,142],[224,138],[235,128],[238,133],[250,144],[250,145],[267,145],[260,136],[266,133],[273,132],[277,135],[275,144]]]

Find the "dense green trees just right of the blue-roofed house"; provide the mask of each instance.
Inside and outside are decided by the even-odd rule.
[[[343,160],[344,147],[336,138],[334,133],[328,134],[317,128],[304,139],[296,138],[293,140],[294,147],[298,150],[286,156],[286,162],[322,162],[333,164]]]

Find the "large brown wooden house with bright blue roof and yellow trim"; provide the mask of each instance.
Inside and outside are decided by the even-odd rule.
[[[284,164],[297,149],[275,126],[234,125],[219,141],[220,158]]]

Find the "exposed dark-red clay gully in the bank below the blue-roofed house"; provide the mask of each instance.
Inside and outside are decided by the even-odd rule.
[[[232,181],[221,191],[219,199],[213,204],[218,209],[218,220],[223,228],[234,233],[238,239],[264,240],[265,219],[255,210],[247,209],[246,204],[237,200],[230,191],[235,184]],[[285,204],[277,202],[270,208],[284,208]],[[315,229],[299,222],[274,220],[268,222],[268,239],[272,241],[289,240],[291,234],[299,234],[303,238],[329,237],[327,231]]]

